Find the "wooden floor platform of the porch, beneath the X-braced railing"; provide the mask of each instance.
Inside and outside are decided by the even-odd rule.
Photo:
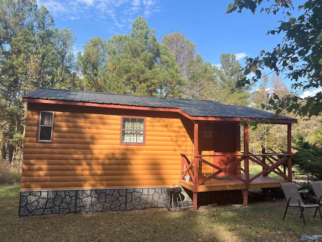
[[[253,174],[250,174],[250,178],[252,178]],[[242,174],[241,178],[245,179],[245,175]],[[287,183],[288,180],[278,179],[268,176],[260,176],[253,180],[250,183],[249,189],[254,188],[279,188],[280,183]],[[180,180],[180,185],[192,192],[196,192],[196,188],[192,181]],[[225,191],[225,190],[240,190],[247,189],[247,185],[236,178],[229,177],[217,177],[214,179],[207,180],[203,185],[199,185],[198,192],[211,192],[211,191]]]

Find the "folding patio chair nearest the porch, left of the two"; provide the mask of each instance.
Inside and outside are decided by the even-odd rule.
[[[315,217],[316,211],[318,210],[318,212],[320,214],[320,218],[322,220],[320,206],[319,206],[316,198],[315,198],[315,200],[316,200],[315,204],[305,204],[305,203],[303,203],[303,200],[301,198],[300,193],[297,190],[295,183],[281,183],[280,185],[281,185],[281,188],[283,190],[284,196],[287,201],[287,206],[285,209],[283,220],[285,219],[288,207],[299,207],[299,209],[301,211],[300,218],[303,219],[304,226],[306,226],[304,213],[303,213],[305,208],[315,208],[314,217]]]

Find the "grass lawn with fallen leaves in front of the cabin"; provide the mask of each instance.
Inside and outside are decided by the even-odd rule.
[[[0,187],[0,241],[303,241],[322,234],[322,221],[284,200],[242,205],[19,217],[19,186]],[[321,238],[318,238],[320,241]],[[309,241],[309,240],[306,240]],[[313,240],[311,240],[313,241]],[[315,240],[314,240],[315,241]]]

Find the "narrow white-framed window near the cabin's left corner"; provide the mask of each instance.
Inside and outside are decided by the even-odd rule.
[[[38,127],[38,141],[51,142],[53,131],[53,112],[40,112],[39,127]]]

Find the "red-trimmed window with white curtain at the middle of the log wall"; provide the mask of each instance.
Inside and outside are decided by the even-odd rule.
[[[144,144],[144,118],[122,118],[122,144]]]

